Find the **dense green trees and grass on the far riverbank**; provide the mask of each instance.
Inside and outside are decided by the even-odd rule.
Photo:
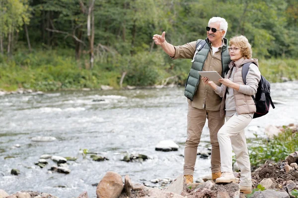
[[[227,20],[226,38],[248,38],[271,82],[298,79],[297,0],[94,2],[89,9],[92,0],[0,0],[0,88],[117,88],[125,72],[123,86],[160,84],[174,76],[167,83],[184,84],[190,61],[171,60],[152,36],[166,31],[173,45],[203,39],[213,16]]]

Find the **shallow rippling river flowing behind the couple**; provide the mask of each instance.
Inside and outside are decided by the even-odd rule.
[[[298,82],[271,85],[276,104],[269,114],[254,119],[246,136],[264,136],[268,124],[298,124]],[[95,100],[95,101],[94,101]],[[8,194],[21,190],[75,198],[87,191],[95,198],[96,184],[107,171],[129,174],[133,183],[150,183],[155,178],[176,178],[183,173],[187,100],[183,88],[126,91],[69,91],[43,95],[0,97],[0,189]],[[202,148],[209,142],[208,127]],[[33,142],[36,136],[52,136],[53,142]],[[178,151],[155,151],[162,140],[173,140]],[[19,148],[15,148],[19,144]],[[83,158],[80,149],[107,157],[106,161]],[[121,161],[126,153],[149,156],[144,162]],[[71,173],[49,173],[34,165],[40,155],[77,156],[69,161]],[[5,159],[4,159],[5,158]],[[10,174],[12,168],[21,174]],[[210,174],[210,159],[197,158],[194,178]],[[92,186],[93,184],[93,186]],[[63,188],[62,188],[63,187]]]

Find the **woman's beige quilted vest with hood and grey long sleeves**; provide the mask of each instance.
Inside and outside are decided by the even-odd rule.
[[[234,97],[234,105],[238,115],[246,114],[246,113],[254,113],[256,112],[256,106],[254,100],[251,96],[254,96],[257,92],[258,83],[261,79],[261,73],[254,64],[250,64],[249,70],[246,76],[246,85],[242,79],[242,65],[247,62],[252,62],[258,66],[257,59],[244,59],[243,57],[237,61],[232,61],[229,64],[230,70],[228,70],[225,78],[230,79],[232,82],[239,84],[240,88],[239,91],[233,91]],[[221,116],[223,117],[225,114],[225,105],[226,105],[226,97],[227,97],[227,88],[226,86],[222,85],[218,87],[215,91],[219,96],[223,97],[221,103]],[[228,97],[231,97],[228,95]],[[229,104],[231,105],[231,104]],[[233,105],[233,104],[232,104]],[[231,106],[228,107],[232,109]]]

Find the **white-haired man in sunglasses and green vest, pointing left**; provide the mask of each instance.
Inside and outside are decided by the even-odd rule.
[[[184,176],[187,183],[193,183],[193,174],[197,158],[197,148],[200,143],[202,130],[208,119],[210,142],[212,145],[211,171],[212,179],[221,177],[221,156],[218,142],[218,131],[224,125],[220,116],[222,98],[205,85],[198,71],[217,71],[224,77],[231,61],[227,50],[227,22],[224,18],[213,17],[209,20],[207,38],[187,43],[183,46],[173,46],[166,42],[165,32],[154,35],[153,40],[172,59],[192,59],[192,67],[185,85],[184,95],[188,98],[187,139],[184,149]],[[220,86],[219,82],[216,82]]]

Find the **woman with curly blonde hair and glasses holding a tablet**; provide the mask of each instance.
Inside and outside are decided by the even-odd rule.
[[[210,85],[216,94],[223,98],[221,115],[226,122],[218,132],[221,151],[222,176],[216,183],[235,182],[232,170],[232,149],[236,154],[236,161],[241,171],[240,192],[251,193],[250,162],[245,139],[244,128],[251,122],[256,111],[254,96],[257,92],[261,74],[258,69],[258,60],[251,58],[252,50],[244,36],[230,39],[229,55],[231,62],[224,79],[220,79],[221,87],[204,77],[203,81]],[[246,75],[246,84],[242,79],[242,65],[250,63]]]

